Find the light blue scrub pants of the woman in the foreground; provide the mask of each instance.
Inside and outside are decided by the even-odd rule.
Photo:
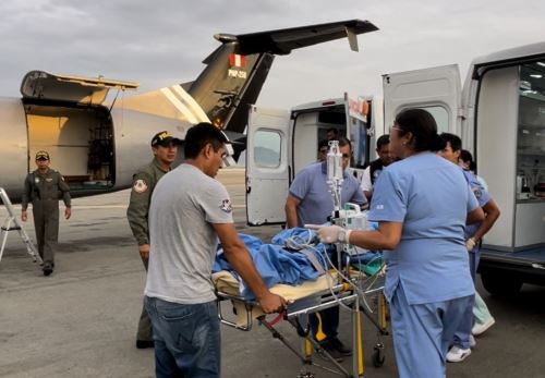
[[[400,378],[446,376],[447,349],[473,297],[411,305],[399,283],[390,302],[390,316]]]

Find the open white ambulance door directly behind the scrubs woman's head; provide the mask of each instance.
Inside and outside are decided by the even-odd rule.
[[[429,111],[438,132],[460,134],[461,82],[458,65],[383,75],[385,132],[407,108]]]

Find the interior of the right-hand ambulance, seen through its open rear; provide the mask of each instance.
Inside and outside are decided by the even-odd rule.
[[[501,209],[485,243],[498,251],[543,246],[545,59],[485,71],[476,103],[477,174]]]

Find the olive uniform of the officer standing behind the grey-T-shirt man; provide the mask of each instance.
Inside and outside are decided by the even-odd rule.
[[[129,224],[138,245],[149,244],[149,229],[147,222],[149,204],[152,203],[152,194],[155,190],[155,185],[157,185],[157,182],[165,173],[167,173],[167,171],[162,170],[159,161],[154,158],[150,163],[140,168],[133,175],[133,188],[131,191],[129,208],[126,209],[126,218],[129,219]],[[148,258],[142,257],[142,263],[144,263],[144,267],[147,271]],[[144,307],[142,307],[136,340],[153,340],[152,322]]]

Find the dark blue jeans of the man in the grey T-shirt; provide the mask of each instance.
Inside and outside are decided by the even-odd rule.
[[[183,305],[145,296],[157,378],[220,376],[221,339],[215,302]]]

